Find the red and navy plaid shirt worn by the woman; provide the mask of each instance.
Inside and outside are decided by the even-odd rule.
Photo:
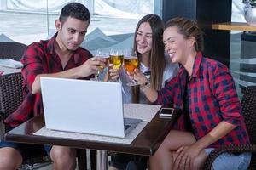
[[[186,76],[187,71],[181,66],[177,77],[158,92],[158,99],[154,103],[182,109]],[[196,139],[201,139],[224,121],[236,125],[236,128],[209,147],[250,143],[235,83],[225,65],[198,53],[188,82],[188,94],[189,117]],[[181,116],[177,122],[177,128],[181,130],[185,130],[183,118]]]

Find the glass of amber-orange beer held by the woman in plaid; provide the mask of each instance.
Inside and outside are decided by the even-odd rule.
[[[133,77],[135,69],[138,67],[138,59],[137,54],[134,52],[125,54],[124,57],[124,67],[125,70]],[[138,83],[134,78],[131,79],[130,82],[127,83],[127,86],[137,86]]]

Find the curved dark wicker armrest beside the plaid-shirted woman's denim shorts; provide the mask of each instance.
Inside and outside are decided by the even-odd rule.
[[[256,152],[256,144],[221,146],[216,150],[212,150],[212,152],[207,156],[204,169],[211,170],[213,161],[215,161],[215,159],[224,152]]]

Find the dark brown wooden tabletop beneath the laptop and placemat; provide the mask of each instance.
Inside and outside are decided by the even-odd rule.
[[[172,125],[177,121],[181,111],[175,110],[171,118],[161,118],[156,114],[151,122],[148,122],[143,131],[131,144],[116,144],[110,142],[98,142],[82,139],[65,139],[33,135],[44,127],[44,116],[36,116],[29,121],[15,127],[5,134],[7,141],[28,144],[53,144],[80,149],[110,150],[114,152],[130,153],[135,155],[151,156],[158,149]]]

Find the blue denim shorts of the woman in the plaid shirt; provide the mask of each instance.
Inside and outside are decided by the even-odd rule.
[[[213,148],[205,149],[207,155],[209,155]],[[251,153],[223,153],[218,156],[212,164],[214,170],[246,170],[250,165],[252,154]]]

